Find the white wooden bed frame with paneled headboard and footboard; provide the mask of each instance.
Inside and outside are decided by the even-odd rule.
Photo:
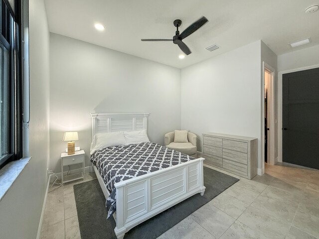
[[[147,130],[148,113],[94,113],[92,138],[98,132]],[[152,218],[196,193],[204,195],[203,160],[197,158],[165,169],[115,183],[118,239],[140,223]],[[107,190],[93,166],[105,198]]]

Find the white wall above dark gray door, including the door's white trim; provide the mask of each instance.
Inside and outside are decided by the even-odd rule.
[[[278,56],[278,161],[282,162],[283,74],[319,67],[319,45]]]

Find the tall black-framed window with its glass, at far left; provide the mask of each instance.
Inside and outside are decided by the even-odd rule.
[[[10,2],[16,6],[18,1]],[[0,0],[0,168],[22,156],[21,44],[19,24],[11,5]]]

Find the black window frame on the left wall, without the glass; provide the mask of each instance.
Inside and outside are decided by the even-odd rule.
[[[14,0],[14,11],[8,0],[0,0],[1,11],[3,6],[7,8],[6,14],[12,17],[9,22],[1,14],[0,42],[9,50],[8,72],[8,153],[0,155],[0,168],[8,162],[22,158],[22,84],[23,84],[23,58],[22,58],[22,8],[21,1]],[[2,21],[5,20],[5,34],[2,35]],[[8,35],[10,38],[8,38]],[[9,40],[9,41],[8,41]]]

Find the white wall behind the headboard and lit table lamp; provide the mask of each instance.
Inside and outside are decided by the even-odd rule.
[[[64,131],[76,130],[86,152],[90,113],[148,112],[150,140],[180,128],[180,70],[132,55],[50,34],[50,169],[61,172]]]

